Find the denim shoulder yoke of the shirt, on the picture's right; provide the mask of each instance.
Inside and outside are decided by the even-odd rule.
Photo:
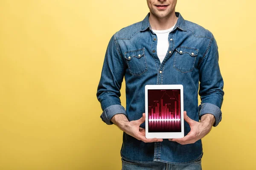
[[[185,20],[185,25],[187,31],[191,31],[195,37],[206,37],[211,40],[213,39],[213,34],[208,29],[188,20]]]

